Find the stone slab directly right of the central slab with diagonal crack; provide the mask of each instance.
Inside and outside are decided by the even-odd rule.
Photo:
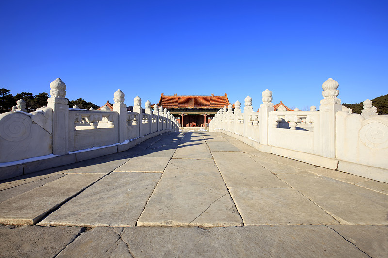
[[[291,188],[231,188],[244,225],[338,224],[309,199]]]

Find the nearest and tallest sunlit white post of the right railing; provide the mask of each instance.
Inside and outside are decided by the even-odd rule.
[[[336,112],[342,110],[341,100],[337,98],[338,82],[332,78],[322,84],[322,96],[319,106],[319,128],[321,155],[329,158],[336,157]]]

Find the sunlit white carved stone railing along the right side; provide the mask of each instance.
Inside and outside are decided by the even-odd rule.
[[[259,149],[321,167],[388,182],[388,116],[377,115],[370,100],[362,114],[340,105],[338,83],[329,78],[322,85],[319,111],[274,111],[272,92],[262,92],[259,112],[252,98],[220,109],[209,131],[222,131]]]

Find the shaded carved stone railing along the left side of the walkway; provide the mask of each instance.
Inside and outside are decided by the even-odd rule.
[[[158,108],[153,111],[147,101],[143,113],[138,96],[134,98],[133,112],[128,112],[120,90],[113,95],[113,110],[86,110],[69,108],[66,85],[60,78],[51,82],[50,88],[47,106],[26,113],[26,102],[20,99],[11,112],[0,114],[0,168],[11,166],[9,162],[65,156],[93,148],[117,146],[117,152],[125,150],[126,145],[130,148],[128,143],[136,138],[179,130],[177,120],[162,107],[162,112]],[[1,171],[0,179],[6,178]]]

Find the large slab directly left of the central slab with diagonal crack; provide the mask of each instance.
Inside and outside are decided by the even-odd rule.
[[[160,177],[160,173],[112,173],[38,225],[133,227]]]

